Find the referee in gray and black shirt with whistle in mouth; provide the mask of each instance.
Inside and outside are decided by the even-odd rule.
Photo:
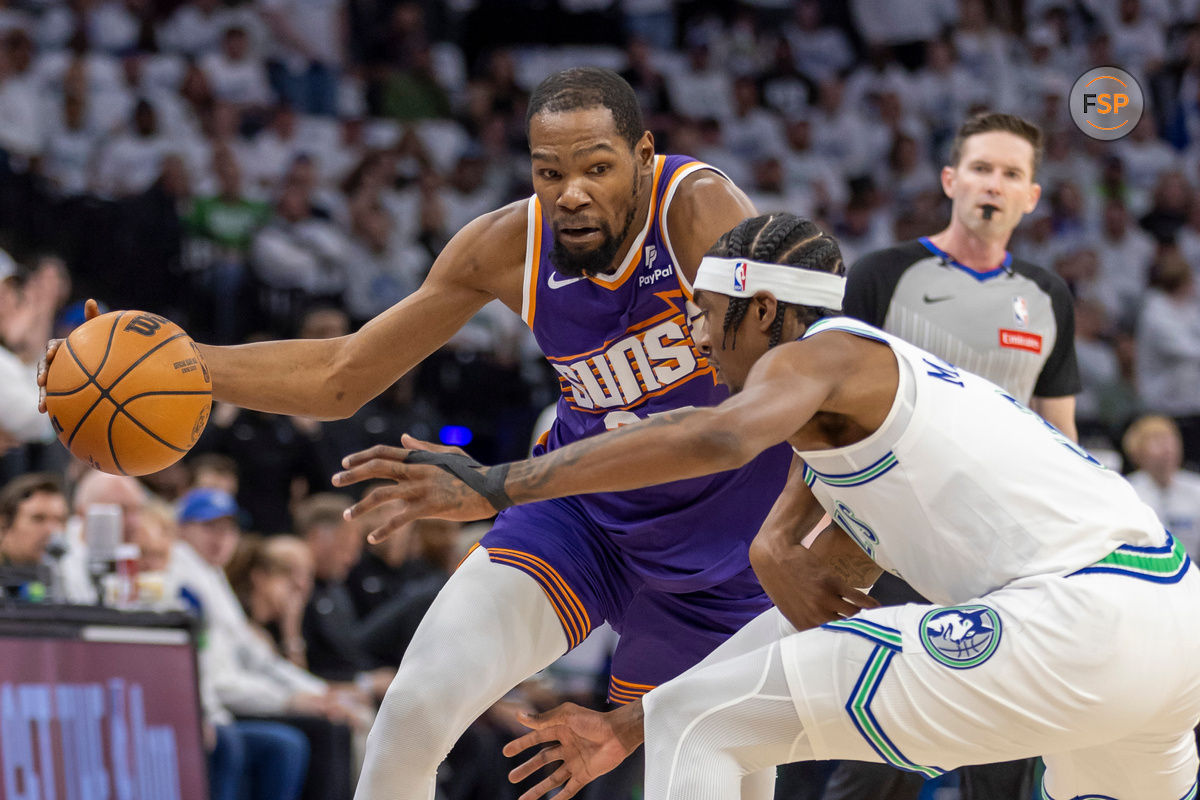
[[[1013,258],[1008,240],[1042,196],[1034,182],[1042,131],[1009,114],[979,114],[959,128],[942,190],[950,222],[938,234],[864,255],[850,270],[847,317],[856,317],[983,375],[1072,439],[1075,317],[1067,284]],[[883,573],[884,604],[928,602]],[[1033,762],[964,768],[962,800],[1031,796]],[[922,780],[882,764],[845,762],[824,800],[914,800]]]

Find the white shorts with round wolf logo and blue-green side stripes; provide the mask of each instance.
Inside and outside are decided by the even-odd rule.
[[[1042,756],[1042,798],[1192,800],[1200,572],[1024,578],[960,606],[863,612],[782,640],[816,758],[935,776]]]

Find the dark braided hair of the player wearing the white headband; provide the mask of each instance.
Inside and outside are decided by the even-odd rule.
[[[716,240],[708,251],[716,258],[745,258],[768,264],[785,264],[816,272],[845,275],[846,265],[841,260],[841,249],[829,234],[817,228],[811,219],[804,219],[792,213],[766,213],[740,222],[736,228]],[[725,312],[721,347],[732,331],[730,349],[737,347],[737,329],[745,319],[751,297],[731,297]],[[779,302],[775,319],[770,321],[768,348],[779,344],[784,336],[784,317],[788,309],[794,309],[797,319],[808,327],[822,317],[835,315],[836,312],[815,306],[798,306]]]

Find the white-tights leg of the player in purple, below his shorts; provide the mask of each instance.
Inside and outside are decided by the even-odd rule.
[[[467,726],[565,651],[542,587],[478,548],[404,654],[367,738],[355,800],[430,800],[438,764]]]

